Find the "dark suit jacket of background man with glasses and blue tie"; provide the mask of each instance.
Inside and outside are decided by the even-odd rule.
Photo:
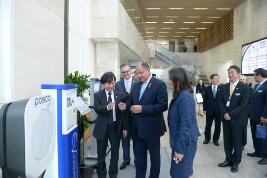
[[[221,95],[222,87],[218,85],[216,90],[215,99],[213,96],[213,85],[206,87],[203,97],[203,111],[207,111],[207,116],[213,116],[214,112],[218,117],[221,117],[221,110],[219,107],[219,98]]]

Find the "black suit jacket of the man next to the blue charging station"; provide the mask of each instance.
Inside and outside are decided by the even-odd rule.
[[[127,113],[124,113],[123,115],[123,121],[122,121],[122,126],[119,128],[120,122],[121,122],[121,117],[122,117],[122,112],[120,108],[118,107],[119,103],[122,102],[122,96],[123,92],[117,91],[116,89],[114,91],[114,99],[115,99],[115,112],[116,112],[116,121],[118,125],[118,131],[119,131],[119,137],[123,137],[123,130],[127,131],[128,130],[128,115]],[[93,94],[94,101],[93,101],[93,109],[94,111],[98,114],[97,121],[95,123],[94,129],[93,129],[93,136],[96,139],[103,140],[104,135],[107,130],[107,125],[109,121],[109,116],[110,116],[110,111],[107,110],[108,106],[108,100],[107,100],[107,95],[105,89],[97,91]],[[113,111],[114,112],[114,111]]]

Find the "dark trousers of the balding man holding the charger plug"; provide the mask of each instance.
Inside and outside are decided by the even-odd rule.
[[[160,174],[160,137],[143,139],[135,130],[134,135],[134,151],[137,161],[135,178],[145,178],[147,169],[147,150],[150,155],[150,176],[149,178],[159,178]]]

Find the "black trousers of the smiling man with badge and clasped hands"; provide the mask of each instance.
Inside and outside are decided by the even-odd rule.
[[[228,122],[223,122],[223,145],[227,162],[239,165],[242,158],[241,139],[244,126],[234,126]],[[234,145],[234,152],[233,152]]]

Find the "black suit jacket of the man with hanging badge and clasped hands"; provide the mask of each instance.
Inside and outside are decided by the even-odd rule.
[[[219,106],[221,109],[221,121],[230,122],[232,125],[245,126],[246,125],[246,107],[249,102],[249,86],[238,81],[230,98],[230,105],[226,107],[226,103],[230,96],[230,82],[223,85],[221,96],[219,99]],[[224,119],[224,114],[228,113],[231,121]]]

